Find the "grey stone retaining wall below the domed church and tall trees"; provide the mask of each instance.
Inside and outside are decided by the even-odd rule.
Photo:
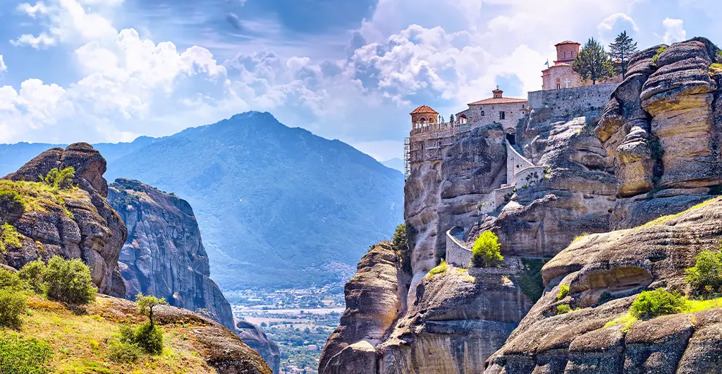
[[[595,84],[593,86],[562,88],[529,92],[529,107],[532,110],[551,109],[553,117],[568,117],[578,111],[604,108],[617,83]]]

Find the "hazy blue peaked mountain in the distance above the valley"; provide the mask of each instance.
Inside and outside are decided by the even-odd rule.
[[[108,177],[184,196],[222,288],[338,279],[402,220],[401,173],[269,113],[155,139],[109,160]]]

